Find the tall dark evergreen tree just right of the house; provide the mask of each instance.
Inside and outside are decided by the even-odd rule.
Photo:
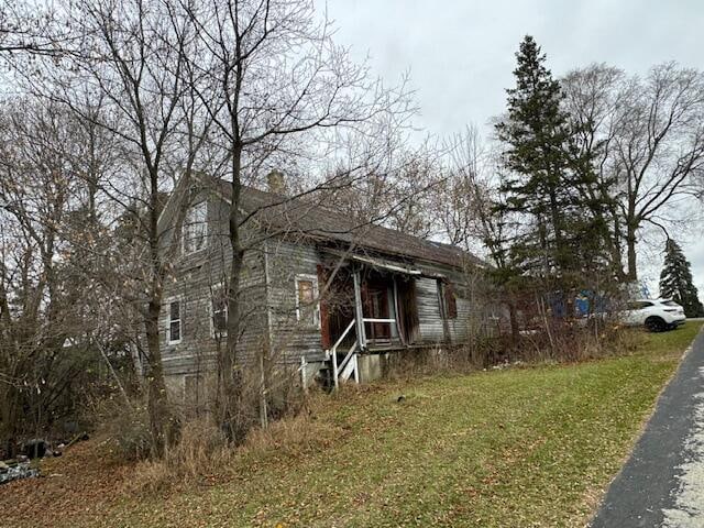
[[[507,117],[496,125],[510,170],[501,188],[502,208],[527,217],[530,226],[514,241],[514,258],[525,271],[579,283],[582,271],[598,262],[603,240],[593,204],[580,193],[595,177],[592,161],[576,146],[560,84],[531,36],[516,58],[516,87],[506,90]]]

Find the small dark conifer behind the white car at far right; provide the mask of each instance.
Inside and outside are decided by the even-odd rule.
[[[692,279],[692,267],[680,244],[668,239],[664,246],[664,265],[660,273],[660,296],[671,298],[684,308],[688,317],[703,317],[704,306]]]

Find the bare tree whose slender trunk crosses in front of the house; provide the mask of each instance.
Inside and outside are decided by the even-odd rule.
[[[219,419],[231,438],[241,397],[238,337],[240,278],[246,244],[241,190],[275,153],[340,142],[343,129],[373,133],[375,119],[407,111],[405,92],[385,89],[331,38],[331,25],[307,0],[180,2],[197,35],[188,68],[222,138],[231,182],[228,343],[220,351]],[[180,16],[180,15],[179,15]],[[292,145],[293,143],[293,145]],[[308,189],[305,193],[310,193]]]

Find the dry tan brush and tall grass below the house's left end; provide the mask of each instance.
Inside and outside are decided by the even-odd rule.
[[[331,441],[323,426],[309,417],[310,399],[295,383],[295,369],[272,372],[248,369],[233,415],[249,431],[233,441],[218,424],[218,384],[215,376],[194,375],[186,387],[169,387],[169,411],[178,433],[154,457],[148,414],[143,398],[116,393],[96,400],[88,409],[92,424],[108,437],[122,460],[142,462],[128,485],[140,493],[168,490],[173,483],[207,482],[239,472],[246,453],[257,457],[293,457]],[[315,405],[314,405],[315,407]],[[306,410],[301,413],[301,410]],[[238,446],[239,444],[239,446]]]

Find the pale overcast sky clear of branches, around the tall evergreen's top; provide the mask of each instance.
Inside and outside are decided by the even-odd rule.
[[[328,0],[328,14],[337,42],[359,59],[369,54],[377,75],[394,82],[410,73],[417,123],[438,135],[486,127],[503,111],[526,34],[557,76],[594,62],[628,73],[667,61],[704,69],[703,0]],[[702,233],[692,229],[682,242],[704,298]],[[657,284],[658,255],[644,251],[641,263]]]

